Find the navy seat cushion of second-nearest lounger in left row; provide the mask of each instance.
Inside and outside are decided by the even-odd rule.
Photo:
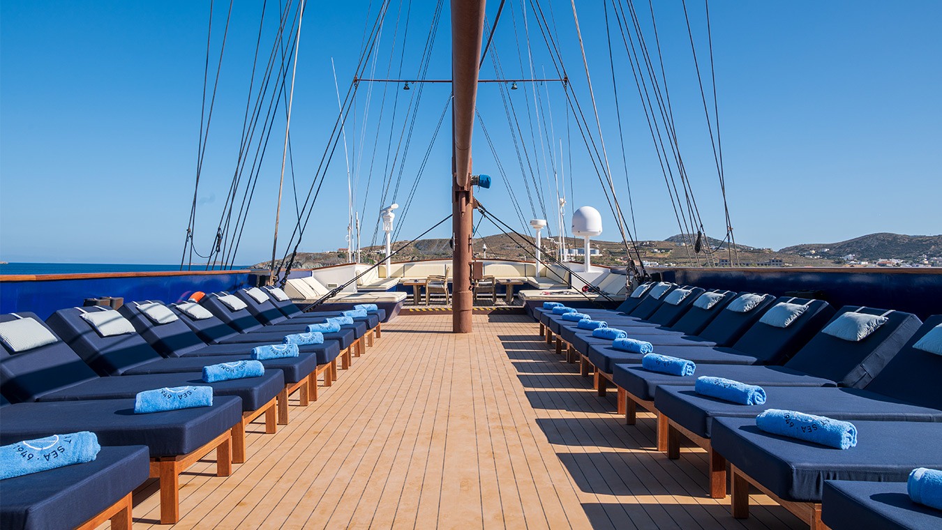
[[[0,407],[0,444],[57,432],[89,430],[102,445],[147,445],[151,457],[191,453],[242,419],[242,401],[213,398],[212,407],[135,414],[134,399],[17,403]]]

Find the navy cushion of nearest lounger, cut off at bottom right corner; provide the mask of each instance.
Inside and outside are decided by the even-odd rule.
[[[832,530],[938,530],[942,511],[914,503],[905,482],[828,480],[821,522]]]

